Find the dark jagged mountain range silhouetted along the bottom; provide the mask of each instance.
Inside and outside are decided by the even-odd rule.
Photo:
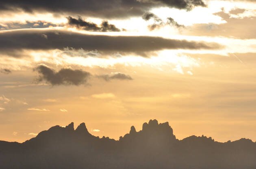
[[[135,127],[119,140],[91,135],[85,123],[54,126],[24,143],[0,141],[1,169],[255,169],[256,142],[176,139],[169,123]]]

